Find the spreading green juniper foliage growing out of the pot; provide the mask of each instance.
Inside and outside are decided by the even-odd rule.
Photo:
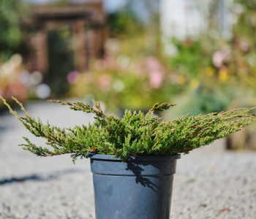
[[[95,115],[94,123],[89,123],[88,126],[58,128],[50,126],[49,123],[42,124],[39,118],[35,120],[23,105],[13,98],[26,113],[25,117],[20,117],[2,97],[1,99],[31,134],[45,138],[46,144],[53,147],[53,150],[38,147],[23,137],[26,140],[26,144],[20,145],[23,150],[44,157],[70,153],[74,163],[78,157],[86,158],[88,153],[114,155],[123,161],[129,156],[137,155],[189,153],[190,150],[208,145],[256,122],[256,115],[248,113],[256,107],[213,112],[208,115],[185,115],[170,122],[161,122],[161,118],[153,115],[154,112],[167,110],[175,104],[154,104],[146,115],[141,111],[132,113],[126,110],[124,117],[119,119],[115,115],[105,115],[100,104],[94,100],[95,109],[82,102],[50,101],[68,105],[71,110]]]

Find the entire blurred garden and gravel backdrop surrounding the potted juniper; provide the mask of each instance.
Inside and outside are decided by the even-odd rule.
[[[256,106],[255,0],[0,0],[0,95],[61,128],[92,115],[47,99],[160,114]],[[0,218],[94,219],[89,160],[39,158],[45,147],[0,101]],[[256,126],[182,155],[171,217],[256,219]]]

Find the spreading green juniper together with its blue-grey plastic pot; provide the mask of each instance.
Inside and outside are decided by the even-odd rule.
[[[126,110],[119,119],[105,115],[97,101],[95,108],[81,102],[53,101],[95,114],[94,123],[87,127],[61,129],[35,120],[15,99],[26,113],[20,117],[1,99],[32,134],[53,147],[37,147],[24,137],[24,150],[44,157],[70,153],[74,163],[79,157],[91,159],[97,219],[169,218],[179,153],[189,153],[256,122],[256,115],[248,113],[256,107],[160,122],[153,113],[174,104],[155,104],[146,115]]]

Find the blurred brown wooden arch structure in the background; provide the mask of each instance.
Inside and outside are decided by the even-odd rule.
[[[48,72],[48,31],[72,30],[75,70],[88,69],[89,59],[102,55],[106,39],[106,16],[102,1],[89,1],[65,7],[39,5],[22,20],[27,32],[26,67],[29,72]]]

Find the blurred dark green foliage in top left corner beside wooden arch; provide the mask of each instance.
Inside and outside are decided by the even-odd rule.
[[[26,13],[22,0],[1,0],[0,3],[0,61],[7,61],[23,48],[20,18]]]

